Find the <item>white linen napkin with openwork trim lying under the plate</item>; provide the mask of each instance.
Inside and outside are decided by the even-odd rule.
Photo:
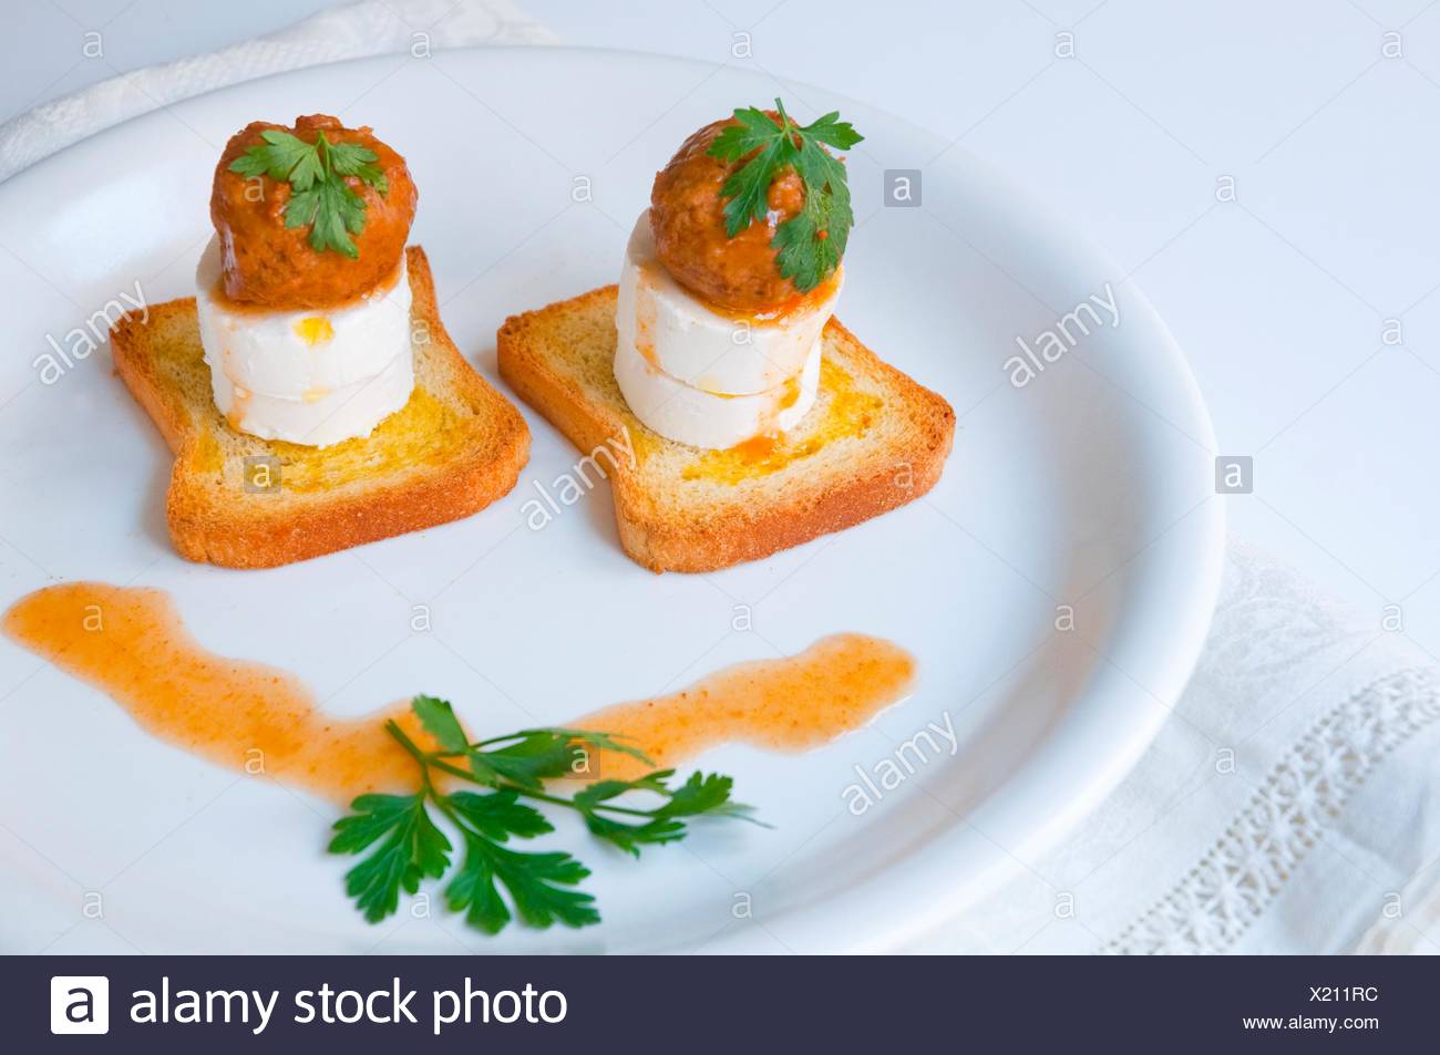
[[[366,0],[0,125],[0,178],[120,121],[301,66],[552,43],[510,0]],[[1440,951],[1440,674],[1233,541],[1174,717],[1060,845],[913,951]]]

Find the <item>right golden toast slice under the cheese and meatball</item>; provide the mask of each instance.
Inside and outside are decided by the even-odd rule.
[[[615,296],[602,286],[505,320],[500,376],[588,458],[611,455],[621,545],[639,564],[759,560],[914,501],[940,478],[955,410],[835,320],[819,397],[778,443],[701,450],[651,432],[615,383]]]

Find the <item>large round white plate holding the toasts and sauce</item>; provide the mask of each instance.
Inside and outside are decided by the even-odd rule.
[[[108,350],[53,384],[32,366],[48,334],[63,343],[137,281],[151,301],[190,292],[230,132],[331,112],[408,157],[415,240],[445,322],[495,381],[505,315],[613,281],[655,168],[696,127],[776,94],[804,119],[840,108],[865,134],[850,160],[860,225],[840,315],[960,417],[926,501],[840,535],[720,574],[657,577],[621,553],[603,488],[531,531],[523,504],[575,453],[523,407],[530,466],[478,517],[274,571],[189,564],[166,537],[170,455]],[[475,734],[570,720],[840,630],[891,638],[920,661],[907,702],[824,750],[736,746],[700,760],[733,773],[773,830],[704,826],[636,864],[562,826],[556,838],[595,868],[605,924],[485,940],[439,910],[366,925],[341,895],[348,862],[323,852],[328,803],[158,743],[4,642],[0,947],[880,948],[1074,825],[1165,720],[1201,645],[1221,560],[1214,440],[1178,348],[1115,265],[1014,180],[958,150],[933,161],[943,145],[861,104],[729,68],[469,50],[225,89],[0,187],[6,603],[52,579],[157,586],[206,645],[297,671],[337,714],[426,691],[454,699]],[[886,168],[923,170],[922,207],[881,207]],[[593,200],[573,200],[585,186]],[[1104,296],[1106,282],[1119,325],[1012,387],[1015,337]],[[431,606],[432,632],[410,630],[413,605]],[[730,629],[737,605],[752,606],[753,630]],[[1054,629],[1057,605],[1073,606],[1074,630]],[[854,767],[946,712],[956,754],[848,813]],[[91,892],[102,921],[82,914]]]

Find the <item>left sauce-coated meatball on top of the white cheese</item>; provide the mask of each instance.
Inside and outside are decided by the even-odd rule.
[[[308,226],[285,226],[288,183],[230,171],[230,163],[259,145],[261,132],[271,128],[292,132],[305,142],[315,142],[324,130],[330,142],[359,142],[376,153],[376,166],[389,184],[383,196],[357,177],[346,180],[366,203],[364,230],[351,236],[359,250],[356,259],[334,250],[317,252],[310,245]],[[399,266],[416,197],[405,158],[369,128],[346,128],[338,118],[323,114],[295,118],[294,128],[265,121],[246,125],[225,145],[210,194],[210,220],[220,236],[225,262],[225,295],[271,309],[327,308],[360,296]]]

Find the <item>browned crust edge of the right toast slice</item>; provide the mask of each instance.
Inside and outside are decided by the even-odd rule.
[[[613,304],[615,294],[613,285],[600,286],[539,311],[513,315],[497,335],[500,376],[582,452],[603,445],[608,436],[625,427],[625,422],[547,364],[541,353],[544,327],[557,315]],[[900,393],[910,415],[920,422],[919,439],[897,452],[900,458],[877,463],[870,472],[825,481],[779,504],[691,510],[684,517],[661,510],[636,472],[621,462],[612,474],[615,520],[621,545],[631,558],[652,571],[716,571],[852,527],[912,502],[935,486],[953,443],[955,410],[937,393],[878,360],[837,320],[829,321],[827,332],[851,343],[855,354],[867,357],[868,366]],[[904,488],[894,481],[900,462],[909,471]]]

